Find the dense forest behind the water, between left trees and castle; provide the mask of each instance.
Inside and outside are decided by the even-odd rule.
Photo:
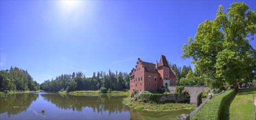
[[[47,80],[40,85],[40,89],[48,92],[98,90],[101,87],[117,91],[129,89],[129,75],[109,70],[107,74],[98,71],[97,74],[94,72],[92,77],[86,77],[82,72],[73,72],[72,75],[62,74],[55,80]]]

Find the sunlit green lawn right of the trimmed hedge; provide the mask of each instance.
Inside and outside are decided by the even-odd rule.
[[[253,94],[256,97],[256,89],[239,89],[230,105],[230,119],[255,119]]]

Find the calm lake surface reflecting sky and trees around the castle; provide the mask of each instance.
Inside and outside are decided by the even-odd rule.
[[[181,113],[135,110],[125,96],[72,96],[58,93],[24,93],[0,96],[0,119],[177,119]],[[42,109],[46,112],[41,113]]]

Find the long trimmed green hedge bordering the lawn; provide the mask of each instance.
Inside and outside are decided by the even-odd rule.
[[[191,119],[220,119],[224,114],[225,108],[228,107],[227,103],[229,103],[234,95],[235,91],[231,89],[213,97]]]

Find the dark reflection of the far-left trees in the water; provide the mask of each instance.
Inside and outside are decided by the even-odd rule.
[[[32,101],[36,101],[38,94],[10,94],[0,95],[0,114],[7,112],[8,116],[26,111]]]

